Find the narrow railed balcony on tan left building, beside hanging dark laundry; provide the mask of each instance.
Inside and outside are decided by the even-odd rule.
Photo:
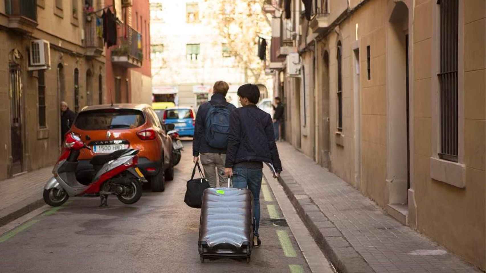
[[[100,57],[103,53],[103,19],[95,14],[85,16],[86,56]]]

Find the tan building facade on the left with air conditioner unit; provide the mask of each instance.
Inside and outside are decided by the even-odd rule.
[[[84,6],[0,1],[0,180],[56,162],[61,101],[77,112],[104,96],[103,41]]]

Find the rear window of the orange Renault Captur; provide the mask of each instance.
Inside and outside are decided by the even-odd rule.
[[[105,109],[80,112],[74,126],[81,130],[137,128],[145,123],[143,113],[132,109]]]

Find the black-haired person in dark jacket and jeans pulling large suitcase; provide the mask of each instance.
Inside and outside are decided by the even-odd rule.
[[[238,88],[238,96],[243,107],[230,115],[225,176],[233,177],[233,188],[248,188],[253,194],[253,247],[259,247],[263,162],[273,164],[274,177],[278,177],[282,171],[282,163],[275,144],[272,117],[255,105],[260,98],[260,90],[255,84],[244,84]]]

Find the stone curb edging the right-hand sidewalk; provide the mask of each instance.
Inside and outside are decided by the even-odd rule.
[[[375,273],[290,174],[278,182],[321,251],[341,273]]]

